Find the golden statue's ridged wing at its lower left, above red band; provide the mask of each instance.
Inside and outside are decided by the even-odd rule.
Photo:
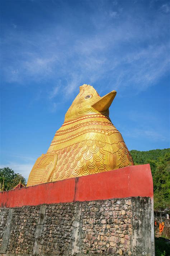
[[[30,172],[27,187],[48,182],[48,178],[54,171],[56,164],[57,154],[55,152],[42,154]]]

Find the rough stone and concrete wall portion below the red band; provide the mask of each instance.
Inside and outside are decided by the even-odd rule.
[[[0,253],[154,255],[150,205],[132,197],[3,208]]]

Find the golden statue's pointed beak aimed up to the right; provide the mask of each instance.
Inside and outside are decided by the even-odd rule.
[[[114,100],[115,96],[116,96],[116,91],[111,91],[110,93],[101,97],[97,102],[91,105],[91,107],[93,107],[95,110],[99,112],[106,111],[112,104],[112,101]]]

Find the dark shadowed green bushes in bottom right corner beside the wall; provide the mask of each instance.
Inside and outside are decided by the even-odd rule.
[[[155,237],[155,256],[169,256],[170,244],[167,243],[167,239]]]

